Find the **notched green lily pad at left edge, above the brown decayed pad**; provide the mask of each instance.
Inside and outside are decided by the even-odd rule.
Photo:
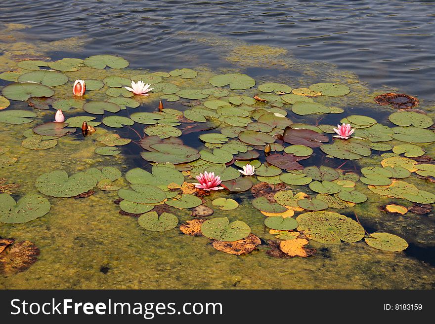
[[[47,198],[28,193],[17,202],[6,193],[0,193],[0,222],[8,224],[26,223],[42,217],[50,211]]]

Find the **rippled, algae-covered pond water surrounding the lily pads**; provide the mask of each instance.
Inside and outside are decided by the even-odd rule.
[[[93,135],[83,137],[78,128],[75,134],[57,139],[58,144],[49,149],[34,150],[22,146],[25,131],[54,120],[56,110],[52,105],[55,105],[55,100],[73,98],[71,89],[75,79],[102,80],[108,76],[130,79],[137,74],[183,68],[196,71],[197,76],[181,78],[160,73],[157,79],[160,77],[163,80],[156,81],[152,86],[168,82],[180,89],[209,89],[214,88],[209,79],[222,73],[246,73],[255,79],[256,85],[241,90],[219,87],[229,92],[223,97],[215,93],[215,96],[198,100],[180,98],[171,102],[164,99],[165,108],[183,112],[194,109],[197,104],[204,108],[204,102],[210,100],[228,102],[231,96],[252,98],[258,94],[260,97],[269,96],[268,103],[242,104],[241,107],[246,105],[248,108],[243,108],[246,114],[240,114],[243,110],[240,108],[239,117],[249,115],[253,120],[258,119],[259,116],[253,117],[253,111],[267,108],[272,112],[286,113],[293,123],[312,127],[336,125],[345,117],[363,115],[393,129],[398,124],[397,121],[392,123],[389,116],[397,109],[376,104],[374,97],[395,92],[417,97],[419,105],[416,108],[434,119],[433,1],[154,0],[124,3],[101,0],[71,1],[65,5],[65,1],[60,0],[36,0],[3,3],[0,13],[0,73],[30,72],[17,65],[23,60],[51,62],[108,54],[129,62],[129,66],[122,69],[93,69],[81,63],[78,64],[79,71],[61,72],[67,75],[69,81],[53,87],[53,100],[32,101],[36,108],[40,105],[39,108],[49,109],[36,109],[30,107],[27,101],[10,100],[10,106],[0,110],[36,113],[32,118],[34,121],[23,124],[1,122],[0,117],[0,147],[8,149],[2,155],[17,158],[11,165],[1,165],[0,178],[4,178],[6,184],[19,185],[11,189],[15,200],[34,193],[47,198],[51,204],[46,215],[32,221],[18,224],[0,222],[0,237],[14,238],[15,242],[31,241],[40,250],[38,260],[22,272],[1,273],[0,263],[0,288],[434,288],[434,213],[390,215],[382,212],[379,210],[382,205],[395,203],[411,207],[413,203],[403,197],[392,198],[372,192],[361,181],[356,181],[355,188],[367,196],[366,202],[345,209],[328,208],[327,211],[360,222],[366,231],[366,238],[369,238],[368,233],[375,232],[397,235],[406,240],[406,250],[378,250],[367,245],[362,237],[352,243],[322,243],[305,233],[309,248],[316,249],[314,255],[305,258],[272,257],[266,254],[270,249],[267,241],[282,240],[276,239],[276,234],[270,234],[269,228],[264,225],[265,216],[253,206],[251,190],[241,193],[218,190],[204,197],[203,204],[214,209],[213,216],[205,219],[228,217],[229,221],[241,220],[261,238],[262,244],[257,250],[233,255],[215,250],[212,240],[206,237],[181,233],[178,226],[168,231],[146,230],[139,225],[136,217],[119,213],[120,206],[113,203],[119,198],[117,190],[95,187],[93,195],[75,199],[44,195],[44,189],[39,190],[41,187],[36,185],[38,177],[54,170],[65,170],[71,176],[90,168],[114,167],[121,171],[122,178],[113,184],[128,189],[130,183],[125,176],[129,170],[140,167],[151,171],[150,162],[140,155],[145,150],[138,144],[144,127],[149,125],[137,121],[122,128],[100,124],[95,127]],[[153,75],[151,80],[156,80],[156,74]],[[11,84],[11,81],[1,79],[0,88]],[[328,109],[334,108],[332,112],[336,113],[300,115],[294,112],[296,109],[292,111],[294,105],[276,99],[283,93],[273,97],[258,89],[259,85],[267,82],[287,84],[294,89],[318,82],[334,82],[348,87],[350,93],[311,98]],[[88,88],[91,88],[90,84]],[[101,89],[88,90],[84,100],[115,98],[106,94],[106,90],[110,89],[121,88],[104,85]],[[131,117],[136,112],[158,111],[162,95],[161,92],[154,92],[149,97],[134,96],[132,99],[138,102],[139,107],[127,107],[117,112],[116,116]],[[4,92],[3,96],[7,97]],[[339,109],[343,112],[337,113],[341,111]],[[167,110],[168,113],[175,113],[175,116],[168,117],[169,123],[174,123],[174,118],[179,117],[174,110]],[[215,113],[218,111],[214,110]],[[65,118],[87,115],[101,122],[103,117],[114,114],[107,111],[104,115],[92,114],[80,106],[64,110],[64,115]],[[222,118],[221,125],[211,130],[199,121],[181,121],[181,125],[174,124],[182,130],[179,139],[198,150],[208,149],[199,139],[200,135],[220,133],[223,126],[228,126]],[[232,126],[248,127],[240,120],[240,125],[237,121],[230,122]],[[207,125],[216,123],[216,119],[212,119]],[[306,125],[301,128],[308,127]],[[284,127],[277,127],[273,132],[282,133]],[[355,136],[362,137],[364,128],[355,128]],[[431,158],[435,158],[435,145],[432,144],[435,141],[430,140],[432,129],[431,125],[425,129],[432,135],[421,135],[421,131],[417,130],[415,139],[409,141],[391,138],[391,141],[376,142],[374,135],[381,132],[383,135],[385,132],[392,134],[391,130],[380,129],[375,129],[370,142],[367,139],[366,142],[352,141],[365,147],[373,147],[369,146],[373,143],[391,146],[414,143],[426,151],[426,160],[420,157],[418,163],[431,165],[434,164]],[[328,137],[329,144],[333,143],[330,127],[316,130],[320,133],[325,131],[323,135]],[[410,132],[414,131],[411,129]],[[119,134],[132,142],[115,146],[121,151],[119,154],[96,154],[95,148],[105,147],[96,139],[110,133]],[[424,141],[425,138],[430,141]],[[237,140],[237,137],[234,139]],[[211,144],[207,146],[214,147]],[[261,163],[266,162],[263,147],[255,147],[260,153]],[[381,156],[384,153],[390,155]],[[370,154],[360,159],[348,160],[326,156],[321,148],[313,147],[313,155],[299,163],[304,167],[328,166],[362,177],[361,168],[391,165],[384,162],[381,165],[381,161],[394,157],[392,154],[397,153],[392,153],[391,148],[386,151],[372,149]],[[403,158],[403,153],[398,154]],[[409,160],[401,161],[409,163]],[[417,162],[414,162],[409,167],[412,175],[398,180],[413,184],[420,191],[433,193],[431,180],[434,179],[434,169],[430,169],[432,176],[428,173],[429,177],[422,179],[415,173],[417,168],[413,166]],[[400,165],[404,164],[397,164]],[[197,163],[190,173],[202,172],[200,166]],[[240,169],[235,165],[231,167]],[[254,184],[260,182],[257,177],[250,178]],[[185,180],[194,182],[187,173]],[[0,189],[4,191],[1,184]],[[288,189],[295,194],[304,192],[311,198],[319,192],[308,185],[290,184]],[[422,199],[421,195],[419,197]],[[217,198],[234,199],[239,206],[230,211],[220,210],[212,205]],[[430,198],[427,200],[430,201]],[[192,219],[190,209],[168,207],[165,211],[177,216],[179,224]],[[295,211],[293,218],[305,212],[301,208]]]

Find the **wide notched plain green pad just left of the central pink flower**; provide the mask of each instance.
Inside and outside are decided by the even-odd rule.
[[[166,166],[153,166],[151,173],[140,168],[134,168],[126,173],[126,180],[130,183],[167,186],[170,183],[183,184],[184,176],[176,169]]]

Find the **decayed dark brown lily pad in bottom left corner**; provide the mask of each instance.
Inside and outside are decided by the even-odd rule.
[[[29,268],[36,262],[40,251],[30,242],[12,244],[0,253],[0,274],[10,276]]]

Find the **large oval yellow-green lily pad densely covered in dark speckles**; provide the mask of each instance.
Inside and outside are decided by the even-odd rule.
[[[310,212],[299,215],[298,231],[303,231],[308,239],[339,244],[352,243],[364,237],[364,228],[353,219],[333,212]]]

